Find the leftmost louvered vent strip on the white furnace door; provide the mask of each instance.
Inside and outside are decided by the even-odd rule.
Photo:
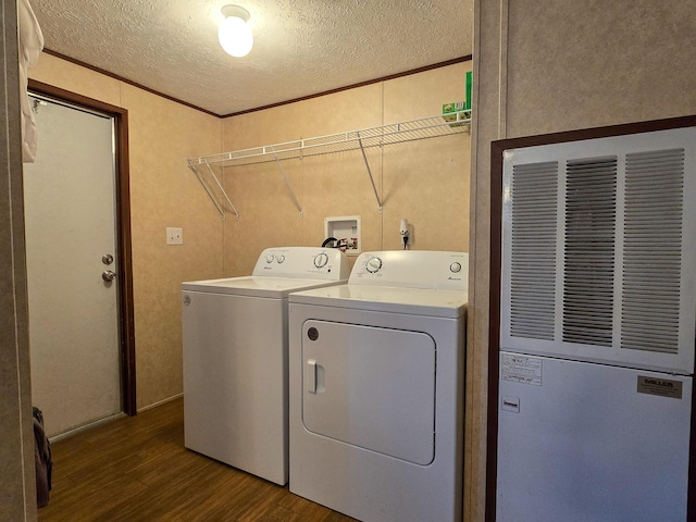
[[[510,335],[554,340],[558,163],[512,172]]]

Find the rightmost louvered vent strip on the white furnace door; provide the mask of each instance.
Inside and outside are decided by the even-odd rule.
[[[621,347],[679,351],[684,150],[626,154]]]

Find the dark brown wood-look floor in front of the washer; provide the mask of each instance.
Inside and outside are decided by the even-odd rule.
[[[55,442],[39,522],[348,522],[348,517],[184,447],[177,399]]]

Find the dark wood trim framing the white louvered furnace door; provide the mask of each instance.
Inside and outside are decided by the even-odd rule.
[[[563,133],[501,139],[490,142],[490,294],[488,332],[488,405],[486,449],[486,522],[496,520],[496,484],[498,458],[498,380],[500,353],[500,279],[502,254],[502,167],[509,149],[540,145],[607,138],[670,128],[696,126],[696,115],[585,128]],[[692,389],[691,444],[688,463],[687,520],[696,520],[696,387]]]

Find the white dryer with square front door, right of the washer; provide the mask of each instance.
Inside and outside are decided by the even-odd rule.
[[[290,482],[365,522],[461,520],[469,257],[362,253],[290,294]]]

